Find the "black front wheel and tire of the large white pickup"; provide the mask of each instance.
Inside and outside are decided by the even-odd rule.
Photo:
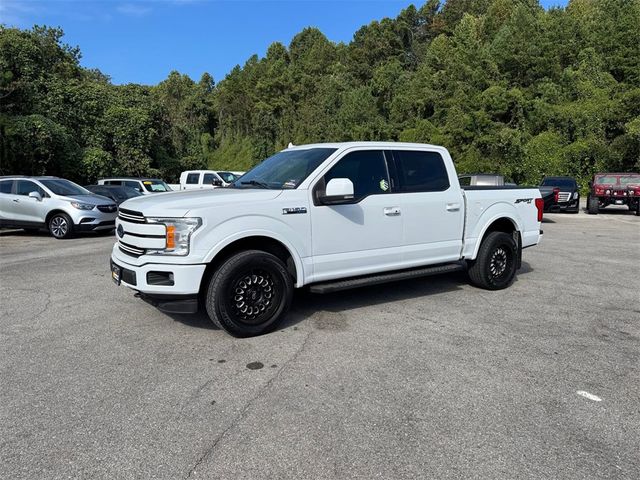
[[[209,318],[235,337],[273,330],[293,298],[293,280],[285,264],[260,250],[239,252],[211,276],[206,295]]]

